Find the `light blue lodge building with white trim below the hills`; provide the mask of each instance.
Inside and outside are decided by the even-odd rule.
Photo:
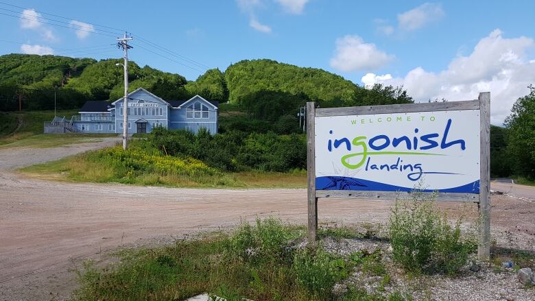
[[[198,132],[206,128],[217,133],[217,101],[208,101],[199,95],[188,100],[165,101],[160,97],[137,88],[128,95],[128,133],[149,133],[161,126],[169,130],[190,130]],[[64,129],[58,130],[58,123]],[[51,130],[56,125],[56,130]],[[117,133],[123,132],[123,98],[117,101],[87,101],[80,109],[80,115],[71,120],[56,119],[47,124],[45,132]]]

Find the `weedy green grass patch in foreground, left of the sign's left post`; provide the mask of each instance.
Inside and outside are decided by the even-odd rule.
[[[85,263],[73,300],[183,300],[209,292],[227,300],[336,300],[350,263],[321,248],[295,250],[302,228],[275,218],[164,248],[125,250],[104,269]]]

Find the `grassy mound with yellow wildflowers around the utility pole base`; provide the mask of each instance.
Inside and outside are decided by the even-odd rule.
[[[69,182],[115,182],[171,187],[304,188],[306,171],[224,172],[192,158],[161,156],[154,150],[109,147],[19,169],[28,176]]]

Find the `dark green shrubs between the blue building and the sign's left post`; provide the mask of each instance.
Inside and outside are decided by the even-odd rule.
[[[147,139],[163,154],[190,156],[224,171],[289,171],[304,169],[307,161],[305,136],[297,134],[232,131],[211,135],[204,130],[193,134],[158,128]]]

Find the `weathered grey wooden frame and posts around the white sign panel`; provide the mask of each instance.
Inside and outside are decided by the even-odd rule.
[[[366,198],[395,200],[404,192],[390,191],[329,191],[316,190],[316,117],[344,115],[394,114],[406,112],[436,112],[449,110],[479,110],[480,178],[479,194],[437,193],[438,201],[475,202],[479,208],[479,243],[477,256],[490,259],[490,93],[479,93],[478,99],[468,101],[431,102],[422,104],[394,104],[385,106],[358,106],[345,108],[316,108],[307,102],[307,198],[308,239],[315,242],[318,236],[318,198]],[[405,193],[407,194],[407,193]]]

